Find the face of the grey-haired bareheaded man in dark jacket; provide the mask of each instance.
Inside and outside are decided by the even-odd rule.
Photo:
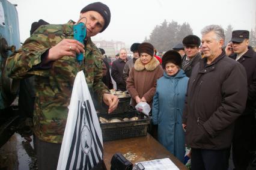
[[[215,32],[211,31],[202,36],[202,49],[204,56],[217,57],[222,52],[223,39],[217,40]]]

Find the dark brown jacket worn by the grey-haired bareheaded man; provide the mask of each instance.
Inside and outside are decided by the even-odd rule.
[[[245,109],[246,72],[225,52],[206,62],[201,59],[189,79],[183,112],[186,142],[192,148],[220,150],[230,147],[234,121]]]

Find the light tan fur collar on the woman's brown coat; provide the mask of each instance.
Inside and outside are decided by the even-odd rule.
[[[135,61],[134,68],[136,71],[142,71],[144,69],[147,71],[153,71],[159,64],[159,61],[154,56],[146,65],[142,64],[141,59],[138,58]]]

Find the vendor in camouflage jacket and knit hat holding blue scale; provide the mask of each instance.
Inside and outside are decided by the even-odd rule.
[[[38,169],[56,169],[66,127],[68,106],[76,73],[83,70],[90,90],[99,102],[114,111],[118,98],[109,94],[102,82],[102,54],[91,37],[109,25],[111,12],[107,5],[94,2],[82,8],[78,22],[44,25],[29,37],[20,52],[7,59],[8,76],[22,79],[35,75],[34,133]],[[84,23],[84,44],[74,39],[73,26]],[[83,53],[81,63],[76,55]]]

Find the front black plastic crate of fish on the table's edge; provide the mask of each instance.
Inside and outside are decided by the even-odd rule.
[[[139,117],[134,121],[121,121],[116,123],[100,123],[102,129],[103,141],[112,141],[118,139],[135,138],[147,135],[148,124],[150,124],[150,118],[136,111],[125,112],[123,114],[99,114],[99,117],[106,119],[120,117],[120,118],[132,118]]]

